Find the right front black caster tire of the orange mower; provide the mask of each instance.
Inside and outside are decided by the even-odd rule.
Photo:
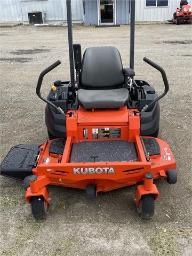
[[[137,205],[137,211],[142,219],[149,219],[155,213],[155,200],[154,195],[142,195],[140,199],[140,208]]]

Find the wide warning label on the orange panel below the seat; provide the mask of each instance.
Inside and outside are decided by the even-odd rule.
[[[121,128],[93,128],[92,134],[93,139],[121,139]]]

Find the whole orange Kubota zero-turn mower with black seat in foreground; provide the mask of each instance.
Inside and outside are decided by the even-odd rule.
[[[36,219],[49,212],[47,185],[85,189],[86,198],[94,199],[100,191],[134,184],[139,216],[151,218],[159,196],[154,179],[177,182],[172,151],[157,138],[158,101],[169,91],[165,71],[143,59],[162,75],[165,89],[158,96],[146,81],[134,79],[132,68],[123,68],[114,46],[89,47],[82,58],[81,45],[73,45],[69,0],[67,13],[70,82],[54,82],[48,97],[42,97],[43,78],[61,63],[57,61],[40,74],[36,87],[38,97],[46,102],[50,140],[41,146],[13,147],[1,164],[1,174],[23,181],[25,199]]]

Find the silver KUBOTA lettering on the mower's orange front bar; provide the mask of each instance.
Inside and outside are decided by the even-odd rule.
[[[113,167],[97,167],[97,168],[93,168],[93,167],[78,167],[78,168],[74,168],[73,169],[74,174],[110,174],[113,173],[115,174],[115,170],[113,169]]]

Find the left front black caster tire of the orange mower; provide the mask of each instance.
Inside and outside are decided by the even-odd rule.
[[[31,197],[31,212],[35,219],[45,219],[49,212],[49,204],[45,202],[43,196]]]

